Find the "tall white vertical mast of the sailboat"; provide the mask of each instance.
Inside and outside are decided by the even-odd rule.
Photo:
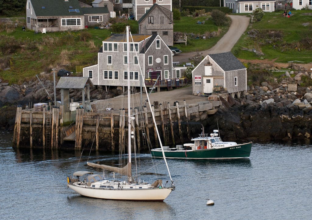
[[[129,26],[126,27],[127,30],[127,64],[128,64],[128,72],[127,72],[127,79],[128,79],[128,162],[131,163],[131,119],[130,119],[130,62],[129,62],[129,50],[130,50],[130,43],[129,43]]]

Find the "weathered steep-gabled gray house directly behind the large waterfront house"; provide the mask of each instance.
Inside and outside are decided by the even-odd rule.
[[[173,45],[173,12],[154,4],[140,18],[139,34],[156,34],[168,45]]]

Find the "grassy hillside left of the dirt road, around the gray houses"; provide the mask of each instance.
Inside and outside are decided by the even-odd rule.
[[[186,31],[196,35],[215,31],[216,37],[209,40],[189,39],[187,46],[176,46],[182,47],[184,52],[212,47],[226,33],[227,28],[218,31],[218,27],[209,20],[204,25],[196,24],[197,20],[203,21],[206,18],[183,17],[181,21],[175,21],[174,31]],[[111,34],[110,30],[94,28],[75,32],[34,34],[31,30],[22,31],[22,26],[26,25],[24,17],[11,20],[12,24],[0,21],[0,78],[2,82],[10,84],[31,80],[41,72],[50,73],[54,67],[76,73],[76,66],[97,64],[97,51],[101,42]],[[136,33],[138,23],[129,22],[132,32]]]

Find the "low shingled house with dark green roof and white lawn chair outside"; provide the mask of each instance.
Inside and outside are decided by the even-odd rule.
[[[40,32],[82,30],[97,22],[108,22],[107,7],[80,7],[78,0],[27,0],[26,26]]]

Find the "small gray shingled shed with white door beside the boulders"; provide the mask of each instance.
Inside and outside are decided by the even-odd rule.
[[[192,71],[193,94],[211,94],[214,86],[227,89],[232,97],[247,91],[247,69],[231,53],[208,54]]]

